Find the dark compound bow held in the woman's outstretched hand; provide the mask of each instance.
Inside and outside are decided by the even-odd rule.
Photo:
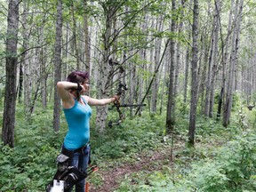
[[[126,84],[119,83],[116,95],[121,96],[127,90],[128,90],[128,88],[126,87]],[[134,107],[139,107],[139,106],[146,106],[146,104],[123,104],[123,105],[121,105],[120,100],[115,100],[114,108],[116,107],[116,110],[119,114],[119,119],[117,119],[115,122],[109,121],[108,126],[111,128],[113,125],[120,124],[124,120],[124,114],[120,108],[134,108]]]

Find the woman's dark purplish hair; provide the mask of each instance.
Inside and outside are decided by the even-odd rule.
[[[89,79],[89,73],[86,71],[73,71],[70,73],[67,77],[68,82],[77,83],[77,84],[83,84],[85,79]],[[71,89],[72,91],[76,90],[77,100],[80,100],[81,92],[79,92],[77,89]]]

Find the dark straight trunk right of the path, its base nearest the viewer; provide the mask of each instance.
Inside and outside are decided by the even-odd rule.
[[[189,130],[188,130],[188,145],[194,147],[195,145],[195,131],[196,131],[196,108],[197,108],[197,61],[198,61],[198,17],[199,7],[198,0],[194,0],[193,8],[193,27],[192,27],[192,61],[191,61],[191,100],[190,100],[190,114],[189,114]]]

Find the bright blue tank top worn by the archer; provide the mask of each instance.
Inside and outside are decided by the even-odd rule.
[[[84,98],[82,98],[84,100]],[[63,108],[68,133],[64,140],[64,147],[69,150],[82,148],[90,140],[90,117],[92,108],[84,100],[85,106],[75,100],[72,108]]]

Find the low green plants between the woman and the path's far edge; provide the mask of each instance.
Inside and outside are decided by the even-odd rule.
[[[159,121],[156,119],[126,118],[122,124],[108,128],[104,137],[92,130],[92,146],[97,156],[107,158],[132,156],[143,149],[155,150],[159,147],[163,130],[164,126],[159,126]]]

